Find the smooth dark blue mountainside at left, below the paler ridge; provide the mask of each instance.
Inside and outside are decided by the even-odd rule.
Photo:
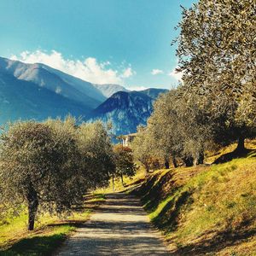
[[[84,117],[91,108],[0,70],[0,123],[17,119]]]

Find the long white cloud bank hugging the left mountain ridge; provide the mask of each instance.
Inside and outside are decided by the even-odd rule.
[[[119,72],[111,67],[109,61],[99,62],[93,57],[85,58],[84,61],[65,59],[55,50],[49,53],[42,50],[23,51],[20,55],[12,55],[11,59],[26,63],[43,63],[94,84],[124,84],[125,79],[136,73],[131,67]]]

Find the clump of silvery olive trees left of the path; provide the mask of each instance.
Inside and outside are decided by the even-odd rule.
[[[108,183],[112,148],[102,123],[68,117],[9,124],[0,142],[2,212],[28,209],[28,229],[41,212],[68,213],[89,189]]]

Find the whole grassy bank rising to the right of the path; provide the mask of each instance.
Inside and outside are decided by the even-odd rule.
[[[256,255],[255,155],[160,170],[134,190],[174,255]]]

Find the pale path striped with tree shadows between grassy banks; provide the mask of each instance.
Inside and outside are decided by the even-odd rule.
[[[57,255],[170,255],[140,202],[121,193],[107,201]]]

